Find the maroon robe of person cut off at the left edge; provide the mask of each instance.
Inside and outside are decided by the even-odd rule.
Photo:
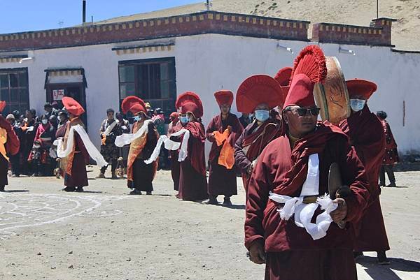
[[[7,133],[7,140],[4,144],[8,157],[18,154],[20,142],[18,135],[16,135],[13,126],[0,115],[0,127],[4,128]],[[8,172],[8,160],[0,154],[0,186],[6,186],[8,184],[7,179]]]

